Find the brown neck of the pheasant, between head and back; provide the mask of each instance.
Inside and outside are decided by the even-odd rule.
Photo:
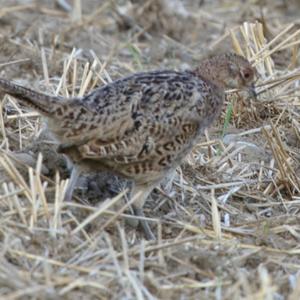
[[[197,77],[215,85],[219,90],[225,90],[225,84],[220,80],[220,70],[214,65],[213,61],[207,59],[193,70]]]

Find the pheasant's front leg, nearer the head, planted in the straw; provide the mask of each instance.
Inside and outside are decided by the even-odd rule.
[[[153,188],[154,188],[154,185],[149,185],[149,186],[134,185],[132,187],[131,198],[133,198],[137,193],[140,193],[142,191],[141,196],[132,205],[134,214],[137,217],[142,217],[142,218],[145,217],[144,212],[143,212],[143,206],[144,206],[146,199],[152,192]],[[144,220],[144,219],[139,220],[139,224],[141,225],[147,240],[155,240],[156,239],[155,235],[153,234],[153,232],[149,226],[149,223],[146,220]]]

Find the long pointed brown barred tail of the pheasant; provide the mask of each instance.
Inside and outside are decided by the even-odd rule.
[[[2,78],[0,78],[0,91],[1,90],[46,116],[51,115],[54,108],[62,103],[62,99],[58,96],[50,96],[36,92]]]

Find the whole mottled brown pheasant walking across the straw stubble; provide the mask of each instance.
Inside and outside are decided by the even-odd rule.
[[[137,73],[81,98],[48,96],[0,79],[0,89],[43,114],[59,150],[74,163],[67,198],[81,170],[109,171],[151,190],[191,151],[201,132],[219,115],[226,88],[251,89],[255,71],[227,53],[192,71]],[[153,237],[142,222],[148,238]]]

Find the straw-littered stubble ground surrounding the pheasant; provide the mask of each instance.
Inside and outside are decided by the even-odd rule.
[[[81,4],[81,5],[80,5]],[[69,167],[41,117],[0,95],[1,299],[300,298],[298,1],[0,1],[0,76],[64,96],[224,51],[256,67],[258,98],[219,120],[145,214],[130,184]],[[117,213],[116,213],[117,212]]]

